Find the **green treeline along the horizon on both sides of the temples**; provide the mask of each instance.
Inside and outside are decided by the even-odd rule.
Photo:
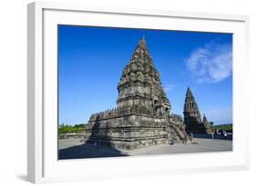
[[[225,130],[231,132],[233,130],[233,125],[231,123],[229,124],[218,124],[213,125],[214,130]],[[60,124],[58,125],[58,133],[77,133],[82,132],[85,130],[85,124]]]

